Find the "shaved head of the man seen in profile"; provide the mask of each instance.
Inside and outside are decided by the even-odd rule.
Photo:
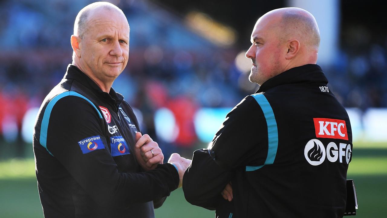
[[[296,7],[275,9],[260,17],[246,57],[252,60],[250,81],[262,85],[293,67],[316,64],[320,31],[310,12]]]

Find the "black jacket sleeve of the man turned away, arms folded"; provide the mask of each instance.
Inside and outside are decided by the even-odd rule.
[[[260,106],[248,96],[228,114],[209,149],[194,152],[184,174],[183,191],[191,204],[216,209],[221,191],[237,168],[264,164],[267,130]]]

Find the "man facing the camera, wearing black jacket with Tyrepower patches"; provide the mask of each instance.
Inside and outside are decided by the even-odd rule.
[[[129,25],[111,3],[75,19],[73,63],[40,108],[33,148],[45,217],[153,218],[189,160],[164,156],[111,87],[129,56]],[[175,155],[176,156],[176,155]],[[179,176],[180,174],[180,176]]]

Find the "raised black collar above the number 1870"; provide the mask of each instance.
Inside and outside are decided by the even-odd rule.
[[[265,92],[273,87],[291,83],[324,83],[326,85],[328,80],[319,65],[306,64],[288,69],[265,81],[255,93]]]

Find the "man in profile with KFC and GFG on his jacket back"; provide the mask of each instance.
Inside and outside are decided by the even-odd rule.
[[[351,125],[316,65],[315,18],[272,10],[251,43],[249,79],[260,88],[227,114],[208,149],[194,152],[183,177],[187,201],[216,209],[217,218],[342,217]]]

